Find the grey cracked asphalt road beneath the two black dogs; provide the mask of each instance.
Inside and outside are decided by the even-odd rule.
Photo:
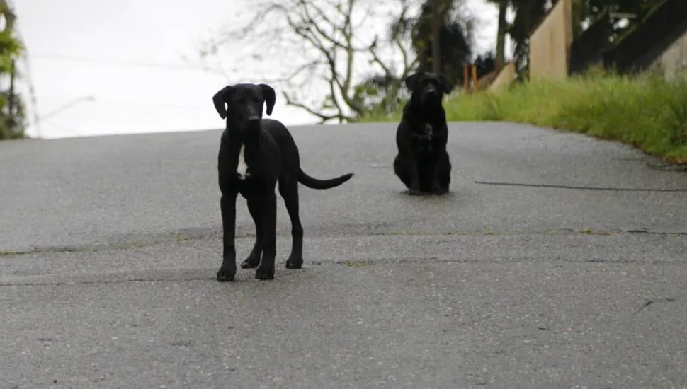
[[[452,192],[409,197],[393,125],[292,132],[356,175],[302,187],[304,269],[280,201],[276,279],[227,284],[219,131],[0,143],[0,387],[687,388],[687,173],[451,124]]]

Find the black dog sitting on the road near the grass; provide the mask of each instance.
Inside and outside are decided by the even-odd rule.
[[[411,98],[396,130],[398,154],[394,173],[410,194],[445,194],[450,185],[451,164],[446,151],[446,112],[441,100],[453,86],[443,74],[422,71],[407,76],[405,83]]]

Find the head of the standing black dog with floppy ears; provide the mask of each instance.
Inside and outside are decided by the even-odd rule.
[[[238,131],[259,129],[263,105],[266,113],[272,115],[276,95],[267,84],[238,83],[225,86],[212,96],[212,103],[222,119],[227,118]]]

